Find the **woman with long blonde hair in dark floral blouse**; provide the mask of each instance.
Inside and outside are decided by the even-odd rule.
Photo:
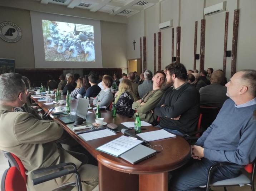
[[[137,100],[133,93],[132,82],[129,79],[123,79],[119,84],[119,91],[115,94],[115,105],[117,113],[124,116],[133,115],[132,104]]]

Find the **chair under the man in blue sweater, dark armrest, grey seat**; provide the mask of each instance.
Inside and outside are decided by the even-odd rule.
[[[207,185],[206,185],[206,191],[211,191],[210,186],[221,186],[224,187],[224,190],[227,191],[227,186],[244,186],[248,185],[251,187],[252,191],[255,191],[254,188],[254,176],[255,176],[255,163],[256,159],[248,165],[244,167],[245,171],[251,174],[251,178],[249,179],[245,174],[241,174],[233,179],[226,179],[226,180],[221,180],[214,182],[211,184],[211,175],[215,167],[217,166],[225,166],[225,165],[234,165],[233,163],[230,162],[218,162],[214,165],[212,165],[209,170],[208,170],[208,178],[207,178]]]

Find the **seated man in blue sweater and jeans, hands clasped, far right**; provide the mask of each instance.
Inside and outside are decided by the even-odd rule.
[[[203,190],[208,169],[217,162],[233,165],[218,166],[211,183],[230,179],[256,157],[256,71],[242,70],[226,84],[227,99],[210,127],[197,140],[188,166],[172,172],[170,189],[175,191]]]

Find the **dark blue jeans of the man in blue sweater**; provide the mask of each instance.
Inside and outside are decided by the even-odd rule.
[[[202,191],[207,184],[208,169],[215,161],[206,158],[202,160],[192,159],[185,166],[169,172],[171,180],[169,182],[169,191]],[[231,179],[240,174],[240,171],[231,171],[227,167],[216,167],[212,174],[211,183],[220,180]]]

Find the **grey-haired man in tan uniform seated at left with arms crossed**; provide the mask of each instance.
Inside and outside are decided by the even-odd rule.
[[[97,167],[82,164],[55,142],[63,135],[61,125],[23,112],[21,107],[26,103],[28,91],[20,74],[0,75],[0,149],[13,153],[21,160],[27,170],[28,190],[53,190],[74,181],[74,175],[67,175],[33,186],[32,171],[62,162],[73,162],[77,166],[83,190],[98,190]]]

